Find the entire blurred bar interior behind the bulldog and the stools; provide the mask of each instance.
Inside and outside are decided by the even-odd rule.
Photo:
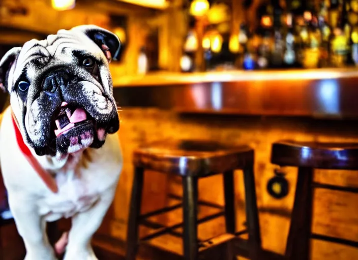
[[[358,1],[0,0],[0,57],[28,40],[80,24],[111,30],[123,44],[110,70],[121,107],[118,135],[125,163],[113,205],[94,238],[100,259],[124,255],[133,150],[164,138],[252,146],[262,245],[283,254],[296,172],[285,169],[288,192],[272,197],[267,183],[277,167],[270,164],[270,147],[282,138],[358,141]],[[7,98],[0,94],[0,108]],[[317,171],[315,179],[358,186],[355,172]],[[240,229],[246,221],[241,173],[235,184]],[[146,174],[142,211],[172,205],[180,186],[176,177]],[[200,180],[199,198],[222,205],[222,177]],[[358,241],[355,194],[319,190],[315,201],[315,232]],[[199,214],[213,212],[202,207]],[[171,225],[181,217],[178,209],[152,220]],[[67,226],[64,221],[61,228]],[[204,223],[199,237],[215,237],[224,226],[223,218]],[[14,225],[1,229],[1,260],[20,259],[23,247]],[[181,240],[170,235],[151,243],[163,251],[182,250]],[[313,259],[358,259],[354,247],[312,244]],[[161,259],[161,251],[143,255]]]

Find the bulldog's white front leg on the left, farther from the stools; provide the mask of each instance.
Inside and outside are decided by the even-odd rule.
[[[9,198],[16,228],[26,248],[25,260],[55,260],[53,248],[46,234],[46,221],[38,214],[35,201]]]

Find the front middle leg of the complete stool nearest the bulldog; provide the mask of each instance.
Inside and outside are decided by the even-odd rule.
[[[197,242],[197,207],[198,207],[197,177],[183,177],[183,219],[184,219],[184,257],[186,260],[198,259]]]

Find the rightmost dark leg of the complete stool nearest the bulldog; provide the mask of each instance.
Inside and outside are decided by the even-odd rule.
[[[246,200],[246,222],[249,233],[250,259],[260,259],[261,235],[258,219],[256,186],[253,166],[244,169],[245,200]]]

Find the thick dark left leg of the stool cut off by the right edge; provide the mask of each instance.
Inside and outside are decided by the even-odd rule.
[[[310,258],[312,179],[312,168],[299,168],[285,252],[287,259],[308,260]]]

